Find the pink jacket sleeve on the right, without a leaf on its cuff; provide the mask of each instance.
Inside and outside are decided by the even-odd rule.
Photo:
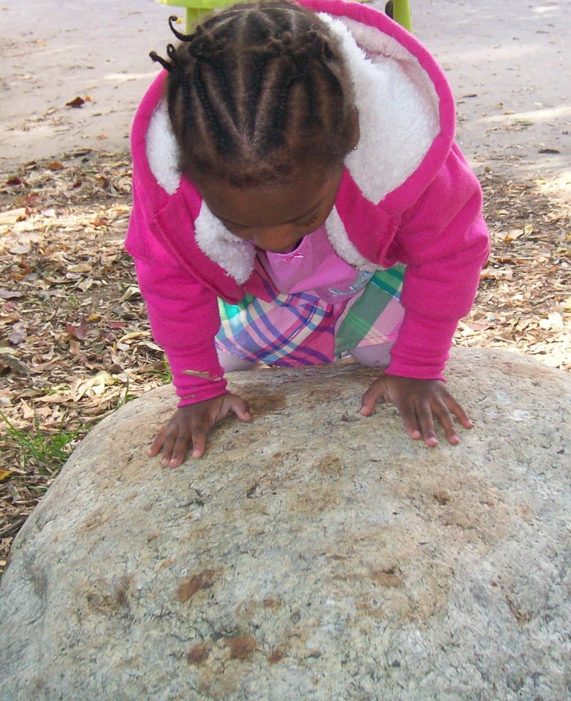
[[[443,168],[405,212],[395,243],[407,265],[403,323],[387,374],[444,379],[452,336],[476,297],[490,250],[476,175],[454,144]]]

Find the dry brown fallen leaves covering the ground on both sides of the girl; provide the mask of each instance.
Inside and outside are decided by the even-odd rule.
[[[492,253],[458,346],[571,369],[571,212],[539,183],[481,175]],[[169,381],[123,249],[130,158],[83,149],[0,173],[0,573],[95,423]]]

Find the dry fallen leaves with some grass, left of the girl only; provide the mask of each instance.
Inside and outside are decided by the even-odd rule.
[[[130,202],[127,154],[0,173],[0,571],[77,442],[168,381],[123,249]]]

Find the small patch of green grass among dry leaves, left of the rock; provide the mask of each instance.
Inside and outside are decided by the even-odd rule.
[[[5,442],[18,451],[23,468],[35,468],[40,474],[58,472],[72,454],[72,442],[79,430],[44,433],[34,418],[34,430],[20,430],[0,412],[6,424]]]

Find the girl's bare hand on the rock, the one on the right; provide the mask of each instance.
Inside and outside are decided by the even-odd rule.
[[[452,445],[460,442],[454,428],[454,414],[464,428],[473,423],[440,380],[416,380],[398,375],[381,375],[368,388],[361,399],[361,414],[370,416],[379,399],[396,405],[404,421],[408,435],[414,440],[424,440],[426,445],[438,445],[434,431],[434,416],[440,421],[446,439]]]

